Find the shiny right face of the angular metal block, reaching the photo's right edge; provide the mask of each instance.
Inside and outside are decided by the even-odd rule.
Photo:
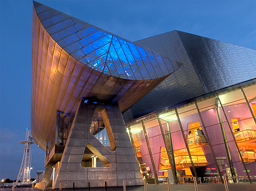
[[[178,31],[205,93],[256,77],[256,50]]]

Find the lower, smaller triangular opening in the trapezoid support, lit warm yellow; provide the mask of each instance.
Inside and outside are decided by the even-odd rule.
[[[83,168],[108,168],[110,162],[92,144],[87,143],[81,166]]]

